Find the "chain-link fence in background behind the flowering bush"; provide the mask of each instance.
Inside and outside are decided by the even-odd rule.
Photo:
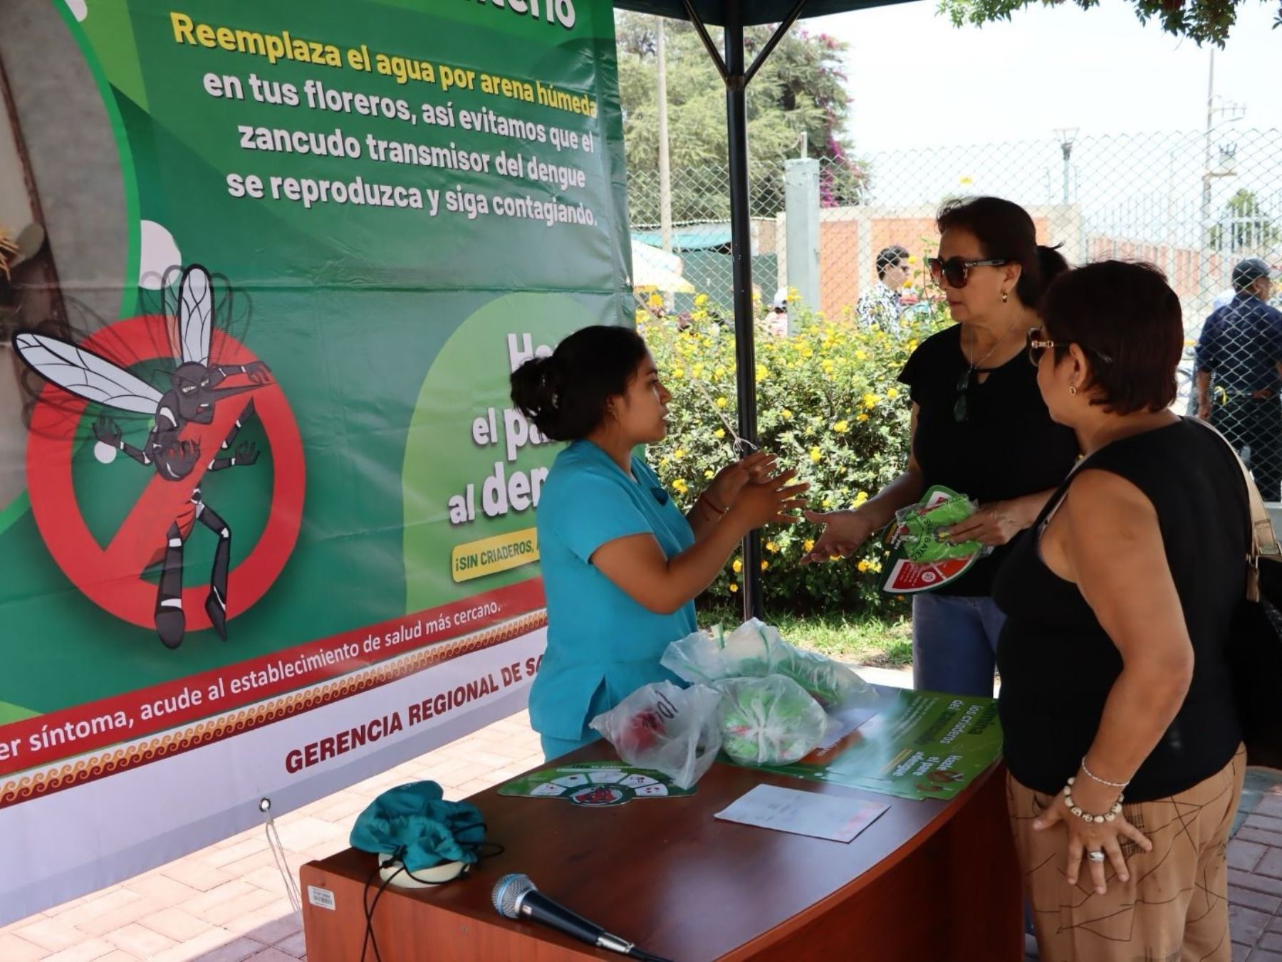
[[[1267,279],[1235,291],[1232,277],[1249,259],[1274,270],[1282,264],[1282,131],[1063,131],[1041,141],[888,151],[858,163],[781,159],[756,163],[751,174],[753,282],[762,313],[781,325],[787,304],[776,298],[790,288],[828,318],[883,327],[887,310],[923,302],[929,291],[922,265],[938,242],[935,213],[962,195],[1023,205],[1038,240],[1061,245],[1070,263],[1155,264],[1183,306],[1187,351],[1177,407],[1197,410],[1201,366],[1214,421],[1253,462],[1265,497],[1282,494],[1282,330],[1259,301],[1282,302]],[[732,283],[727,170],[678,169],[670,184],[665,204],[656,172],[629,172],[638,295],[651,310],[728,314],[720,307],[731,302]],[[879,255],[895,246],[908,257],[883,256],[879,270]],[[894,270],[899,263],[906,279]],[[894,291],[881,277],[886,266]],[[1196,345],[1217,310],[1199,365]]]

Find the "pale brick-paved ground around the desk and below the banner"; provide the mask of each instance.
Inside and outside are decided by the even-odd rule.
[[[908,683],[899,671],[860,674],[878,684]],[[387,788],[432,779],[446,797],[462,798],[541,761],[522,712],[322,798],[277,820],[290,871],[296,877],[304,862],[344,848],[353,819]],[[1256,775],[1249,789],[1229,844],[1233,962],[1282,962],[1282,785]],[[301,958],[300,922],[262,829],[0,929],[0,962]]]

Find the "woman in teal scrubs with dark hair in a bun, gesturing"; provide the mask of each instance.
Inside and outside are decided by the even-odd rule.
[[[753,455],[723,469],[682,515],[636,453],[667,433],[672,396],[635,330],[590,327],[512,375],[512,400],[553,441],[538,502],[547,652],[529,720],[556,758],[599,735],[588,722],[649,681],[678,681],[659,658],[696,629],[695,598],[744,537],[792,524],[804,484]]]

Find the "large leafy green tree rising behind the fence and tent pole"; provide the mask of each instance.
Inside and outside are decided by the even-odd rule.
[[[615,15],[619,97],[629,172],[629,201],[638,223],[658,222],[659,126],[655,99],[656,20],[635,13]],[[668,131],[673,169],[673,219],[727,219],[726,86],[699,35],[685,20],[667,20]],[[710,31],[720,42],[720,31]],[[772,27],[745,31],[747,58]],[[824,159],[828,202],[853,202],[867,179],[850,158],[842,128],[850,99],[841,72],[846,45],[826,35],[794,28],[747,87],[747,145],[753,174],[753,214],[773,216],[783,206],[783,158]]]

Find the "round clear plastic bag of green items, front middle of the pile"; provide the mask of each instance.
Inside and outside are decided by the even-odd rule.
[[[791,678],[727,678],[713,685],[722,748],[740,765],[790,765],[813,752],[828,728],[819,703]]]

